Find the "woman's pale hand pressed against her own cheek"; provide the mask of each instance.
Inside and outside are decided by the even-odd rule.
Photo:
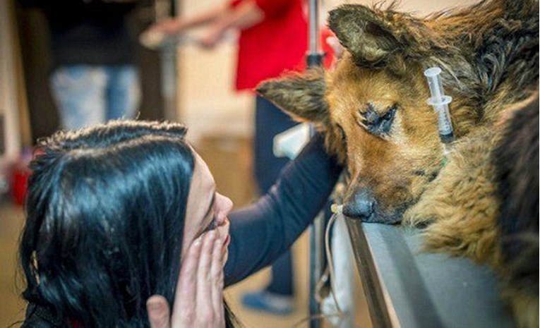
[[[174,308],[162,296],[148,298],[152,328],[225,327],[223,307],[223,241],[209,231],[191,244],[182,261]]]

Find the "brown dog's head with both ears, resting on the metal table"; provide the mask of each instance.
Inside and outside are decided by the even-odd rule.
[[[491,7],[477,9],[486,12],[486,17],[475,13],[484,23],[501,15]],[[316,68],[259,85],[261,95],[295,119],[325,131],[328,150],[347,164],[344,212],[349,217],[400,221],[437,176],[443,146],[437,114],[426,103],[426,68],[443,68],[446,93],[455,98],[452,119],[458,138],[486,119],[479,106],[486,72],[474,64],[478,40],[469,39],[477,32],[483,40],[489,31],[467,13],[420,19],[392,6],[341,6],[328,20],[347,50],[335,71]],[[537,45],[536,40],[536,62]]]

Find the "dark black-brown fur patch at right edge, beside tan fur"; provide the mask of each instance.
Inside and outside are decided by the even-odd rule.
[[[504,296],[520,327],[539,324],[539,98],[512,113],[492,153]]]

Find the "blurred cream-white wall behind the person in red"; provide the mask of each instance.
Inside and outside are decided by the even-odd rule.
[[[181,12],[189,16],[224,0],[184,0]],[[374,1],[326,0],[326,11],[339,4],[372,4]],[[402,0],[400,9],[424,16],[444,8],[467,5],[476,0]],[[321,20],[326,17],[322,11]],[[179,51],[179,117],[190,128],[188,135],[196,140],[208,132],[249,134],[252,132],[253,95],[234,91],[236,44],[227,42],[213,51],[193,45]]]

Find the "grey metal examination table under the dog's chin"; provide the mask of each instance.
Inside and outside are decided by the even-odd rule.
[[[490,267],[421,252],[416,229],[346,220],[373,327],[512,327]]]

